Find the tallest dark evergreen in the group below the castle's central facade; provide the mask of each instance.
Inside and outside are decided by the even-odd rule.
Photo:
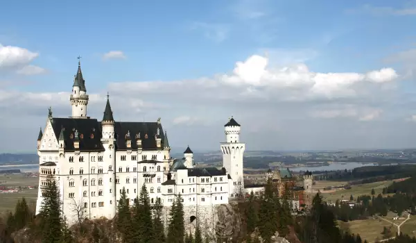
[[[133,215],[134,235],[133,242],[148,243],[153,242],[153,224],[150,208],[150,199],[146,184],[143,184],[140,196],[135,200]]]

